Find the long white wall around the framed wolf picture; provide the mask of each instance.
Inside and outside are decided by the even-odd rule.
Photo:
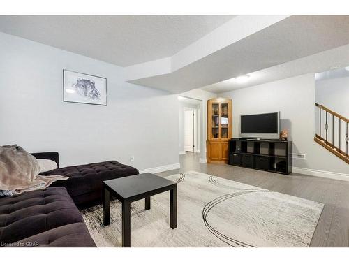
[[[177,95],[128,84],[118,66],[23,38],[0,34],[0,46],[0,145],[58,151],[61,166],[179,163]],[[64,68],[107,78],[107,106],[64,103]]]

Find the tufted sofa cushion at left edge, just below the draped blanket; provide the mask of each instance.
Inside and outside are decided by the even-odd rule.
[[[78,222],[84,220],[64,187],[0,198],[1,245]]]

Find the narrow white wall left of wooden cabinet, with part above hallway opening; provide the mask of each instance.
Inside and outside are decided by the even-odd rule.
[[[206,161],[206,140],[207,140],[207,100],[217,97],[217,94],[207,92],[201,89],[193,89],[188,92],[180,94],[181,96],[190,97],[192,99],[200,100],[201,119],[200,133],[202,134],[200,145],[200,161]]]

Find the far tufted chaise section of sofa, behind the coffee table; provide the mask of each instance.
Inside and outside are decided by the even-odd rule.
[[[103,180],[111,180],[127,175],[136,175],[138,170],[132,166],[123,165],[117,161],[89,163],[80,166],[68,166],[50,170],[40,175],[64,175],[68,180],[54,182],[51,187],[66,187],[73,198],[91,192],[102,192]]]

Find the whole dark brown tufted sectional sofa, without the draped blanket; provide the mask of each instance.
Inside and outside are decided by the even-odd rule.
[[[33,154],[59,165],[57,152]],[[96,247],[77,209],[101,202],[102,182],[136,175],[138,170],[117,161],[58,168],[40,175],[64,175],[54,182],[17,196],[0,198],[1,247]]]

